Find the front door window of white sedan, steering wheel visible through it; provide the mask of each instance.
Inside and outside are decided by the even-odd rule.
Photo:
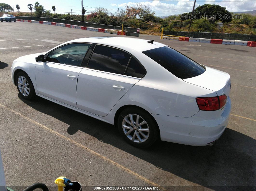
[[[61,63],[71,66],[80,66],[91,44],[72,43],[61,46],[48,54],[48,62]]]

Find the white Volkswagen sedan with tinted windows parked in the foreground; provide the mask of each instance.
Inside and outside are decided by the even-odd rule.
[[[159,138],[211,145],[225,130],[231,110],[228,73],[142,39],[68,41],[19,57],[11,72],[24,99],[37,95],[115,124],[136,147]]]

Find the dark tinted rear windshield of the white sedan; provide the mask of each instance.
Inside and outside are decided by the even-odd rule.
[[[168,46],[146,50],[142,53],[178,78],[192,78],[204,73],[206,70],[204,66]]]

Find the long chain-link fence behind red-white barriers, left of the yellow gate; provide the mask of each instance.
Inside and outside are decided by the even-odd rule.
[[[82,26],[82,27],[94,27],[94,28],[101,28],[101,29],[122,30],[122,27],[113,26],[113,25],[72,21],[72,20],[65,20],[65,19],[55,19],[55,18],[45,18],[45,17],[26,17],[26,16],[16,16],[16,19],[58,22],[58,23],[64,23],[64,24],[73,24],[73,25]],[[140,35],[140,29],[138,29],[138,28],[124,27],[123,30],[125,31],[125,29],[126,29],[127,36],[139,36]]]

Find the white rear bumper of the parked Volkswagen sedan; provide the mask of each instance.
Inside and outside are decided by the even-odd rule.
[[[207,118],[215,111],[198,111],[192,117],[174,117],[152,114],[158,123],[162,141],[193,146],[206,146],[216,141],[226,129],[231,111],[231,100],[228,97],[224,111],[218,118]],[[214,115],[212,115],[214,116]]]

